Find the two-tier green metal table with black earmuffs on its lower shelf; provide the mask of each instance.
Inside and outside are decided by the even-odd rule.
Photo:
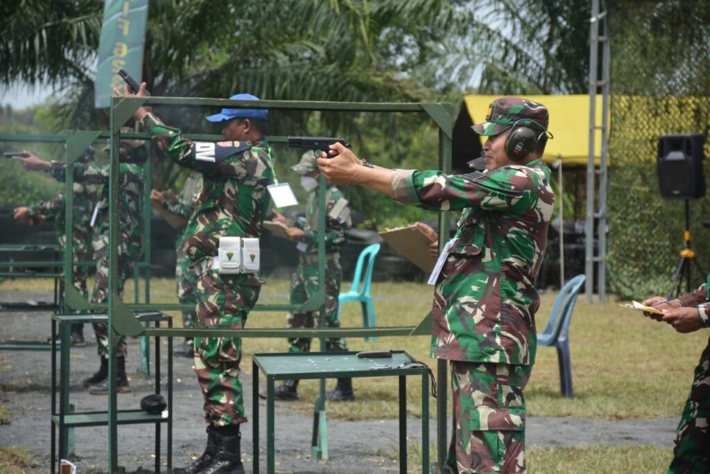
[[[160,312],[144,312],[136,314],[142,323],[155,323],[157,327],[161,321],[166,321],[168,327],[173,326],[173,318]],[[50,473],[59,471],[61,459],[66,459],[70,453],[70,444],[73,440],[73,428],[82,426],[107,426],[109,412],[70,412],[69,403],[69,375],[70,375],[70,348],[71,326],[76,323],[105,323],[109,320],[107,314],[53,314],[52,316],[52,433],[51,433],[51,467]],[[60,344],[57,344],[57,331],[59,330]],[[59,409],[57,409],[57,352],[60,352],[60,391]],[[160,338],[155,336],[155,393],[160,393]],[[167,383],[168,408],[161,414],[149,414],[141,409],[118,410],[116,424],[155,424],[155,472],[160,473],[160,424],[168,427],[168,472],[173,467],[173,338],[168,338],[168,383]],[[56,451],[57,434],[59,431],[59,456]],[[57,466],[57,471],[55,471]]]

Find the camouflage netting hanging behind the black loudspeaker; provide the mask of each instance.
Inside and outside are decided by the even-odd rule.
[[[621,297],[665,294],[683,248],[684,202],[663,199],[657,139],[701,133],[710,154],[710,4],[609,2],[611,135],[608,282]],[[633,32],[633,34],[630,34]],[[705,175],[710,163],[704,162]],[[692,247],[710,268],[710,199],[690,202]],[[693,269],[692,286],[706,275]],[[685,291],[683,283],[682,291]]]

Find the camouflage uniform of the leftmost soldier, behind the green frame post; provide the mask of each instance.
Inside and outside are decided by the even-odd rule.
[[[85,158],[83,162],[91,164],[94,160]],[[92,241],[92,228],[89,224],[97,199],[99,185],[75,182],[73,189],[74,210],[72,211],[72,219],[74,219],[74,228],[72,229],[72,250],[74,252],[74,261],[86,262],[94,258],[92,248],[89,247],[89,243]],[[28,214],[29,216],[42,215],[47,219],[54,219],[57,229],[57,240],[62,252],[67,242],[65,235],[65,204],[65,196],[62,192],[51,201],[40,201],[30,206]],[[84,298],[88,299],[87,268],[75,265],[72,269],[72,277],[76,289],[79,290]]]

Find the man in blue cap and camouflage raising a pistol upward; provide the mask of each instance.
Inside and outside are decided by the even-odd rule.
[[[136,96],[142,97],[145,84]],[[128,89],[124,94],[129,95]],[[257,101],[251,94],[229,99]],[[225,272],[219,258],[236,237],[259,238],[268,211],[267,186],[275,182],[271,147],[266,142],[266,109],[228,107],[207,116],[224,123],[219,143],[193,142],[140,107],[133,116],[173,161],[202,173],[202,192],[185,228],[182,250],[197,277],[197,329],[242,329],[263,283],[256,273]],[[231,248],[230,248],[231,250]],[[258,250],[257,250],[258,252]],[[229,255],[229,260],[231,260]],[[204,396],[207,448],[175,473],[244,473],[239,425],[246,421],[239,381],[241,339],[195,338],[195,373]]]

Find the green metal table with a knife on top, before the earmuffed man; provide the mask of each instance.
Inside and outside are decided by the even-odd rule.
[[[275,470],[274,382],[287,379],[330,377],[399,377],[400,473],[407,472],[407,376],[422,377],[422,473],[429,473],[429,370],[407,366],[408,353],[393,351],[388,358],[358,358],[356,352],[262,353],[252,356],[253,377],[253,472],[259,470],[259,371],[266,377],[266,473]],[[314,421],[314,442],[317,439]]]

